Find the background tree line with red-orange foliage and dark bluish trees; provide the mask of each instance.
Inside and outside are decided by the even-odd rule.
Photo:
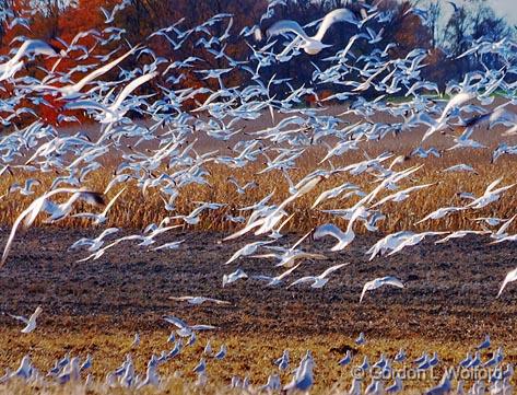
[[[468,71],[504,67],[505,59],[497,54],[460,55],[475,43],[497,43],[515,34],[515,26],[496,16],[484,0],[470,0],[460,5],[442,0],[0,0],[0,53],[9,57],[20,37],[39,38],[64,49],[78,34],[90,32],[78,39],[78,48],[61,59],[57,67],[55,59],[34,59],[26,65],[24,72],[43,79],[54,67],[55,71],[62,73],[73,69],[77,70],[75,79],[89,72],[87,68],[82,71],[78,66],[89,66],[109,54],[121,51],[121,48],[142,45],[150,51],[128,58],[124,63],[126,70],[142,68],[156,58],[167,62],[189,57],[201,59],[195,62],[196,67],[173,69],[167,75],[161,75],[153,82],[155,84],[216,90],[220,84],[218,79],[203,78],[196,71],[234,68],[235,71],[224,74],[221,81],[226,86],[242,86],[250,82],[246,60],[254,50],[265,45],[263,42],[257,43],[249,34],[254,26],[263,33],[282,19],[295,20],[304,25],[340,7],[346,7],[357,15],[366,9],[371,12],[377,10],[386,16],[381,21],[373,19],[368,22],[367,26],[373,32],[383,32],[381,39],[375,45],[365,40],[354,43],[351,51],[355,58],[372,54],[375,49],[389,48],[389,58],[397,59],[422,48],[427,54],[422,78],[438,83],[442,89],[447,81],[460,81]],[[210,43],[210,36],[202,30],[193,32],[185,40],[178,34],[201,25],[216,14],[232,15],[221,20],[224,22],[208,26],[210,34],[216,37],[227,30],[230,35],[224,43]],[[171,30],[167,35],[153,35],[172,24],[176,24],[176,30]],[[325,37],[325,43],[332,45],[330,48],[316,56],[301,53],[295,60],[266,66],[262,70],[265,81],[275,75],[292,79],[293,86],[339,90],[334,85],[316,85],[313,73],[315,68],[328,67],[327,58],[346,46],[356,33],[357,27],[352,24],[333,25]],[[390,46],[391,43],[395,45]],[[283,45],[280,39],[273,48],[280,51]],[[223,53],[224,56],[221,56]],[[116,79],[116,72],[104,78]],[[354,71],[350,78],[360,80],[362,77]],[[4,88],[3,94],[9,94],[9,86]],[[46,98],[59,108],[54,97]],[[48,106],[42,112],[46,118],[55,117],[56,108]]]

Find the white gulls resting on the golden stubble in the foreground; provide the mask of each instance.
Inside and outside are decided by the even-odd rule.
[[[196,299],[188,300],[189,303],[192,300]],[[199,300],[196,300],[195,304],[198,303]],[[40,307],[38,310],[40,311]],[[30,322],[35,324],[34,315]],[[25,320],[23,317],[16,318]],[[211,325],[188,325],[175,316],[164,316],[164,320],[174,325],[176,329],[166,339],[167,350],[162,351],[158,356],[154,353],[151,356],[145,374],[137,373],[131,353],[127,353],[118,368],[106,373],[104,381],[101,381],[102,385],[106,388],[121,387],[133,391],[146,387],[166,388],[167,384],[171,384],[171,379],[163,379],[158,368],[173,360],[180,360],[181,355],[185,355],[188,350],[199,353],[198,350],[195,350],[198,334],[216,329],[215,326]],[[467,352],[465,359],[453,364],[442,361],[436,351],[423,352],[420,357],[411,359],[403,348],[399,349],[392,358],[380,353],[377,361],[371,362],[366,344],[365,335],[361,333],[354,340],[354,347],[356,348],[349,348],[345,355],[336,361],[336,364],[340,367],[339,369],[343,373],[349,373],[352,379],[349,388],[343,388],[341,384],[341,386],[334,387],[336,393],[348,395],[397,394],[403,392],[406,385],[414,388],[419,386],[418,380],[434,380],[437,372],[444,371],[439,383],[425,390],[426,395],[482,395],[486,392],[490,392],[491,395],[513,394],[510,381],[514,376],[514,365],[510,362],[504,363],[503,347],[498,347],[493,351],[490,350],[492,342],[487,335],[480,345]],[[140,336],[136,334],[130,349],[134,351],[140,345]],[[184,380],[185,376],[193,375],[196,380],[191,385],[202,388],[209,382],[210,367],[224,363],[221,361],[232,351],[234,350],[230,350],[225,344],[222,344],[219,349],[214,349],[211,340],[208,340],[201,347],[199,362],[193,369],[190,372],[175,371],[172,380]],[[279,358],[271,359],[272,373],[266,379],[266,382],[254,383],[248,375],[244,377],[234,375],[227,385],[232,390],[246,394],[308,393],[315,385],[313,372],[315,359],[312,351],[307,350],[297,365],[292,365],[291,362],[290,350],[286,349]],[[81,358],[71,357],[70,353],[67,353],[56,360],[52,368],[44,373],[32,363],[31,357],[26,355],[22,358],[17,369],[5,370],[4,375],[0,376],[0,384],[21,380],[44,386],[73,383],[89,388],[94,383],[97,385],[99,383],[91,373],[93,363],[94,360],[91,355]],[[291,379],[289,379],[290,375]],[[284,380],[284,384],[282,384],[282,380]],[[454,386],[455,381],[456,386]],[[470,382],[472,384],[468,388],[467,385]]]

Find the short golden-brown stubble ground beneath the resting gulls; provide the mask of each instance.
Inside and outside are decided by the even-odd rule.
[[[34,364],[45,372],[54,361],[61,358],[66,352],[80,355],[83,358],[87,352],[94,356],[94,364],[91,373],[96,380],[96,384],[85,388],[82,385],[54,385],[47,384],[27,388],[21,383],[13,383],[7,386],[0,386],[2,394],[26,394],[27,392],[38,392],[43,394],[131,394],[132,391],[122,388],[109,388],[99,385],[104,381],[104,375],[108,371],[121,364],[127,352],[131,352],[136,369],[144,374],[145,363],[151,353],[160,353],[162,350],[171,349],[166,344],[167,333],[156,330],[141,334],[141,345],[138,349],[131,350],[132,334],[119,332],[117,329],[107,333],[93,330],[56,333],[39,330],[36,334],[20,337],[12,329],[1,329],[0,341],[10,342],[10,351],[0,352],[0,364],[15,368],[19,359],[26,352],[33,357]],[[362,362],[363,357],[367,356],[371,362],[375,362],[381,353],[393,357],[399,348],[408,350],[408,361],[420,357],[422,352],[436,350],[440,358],[440,364],[436,371],[420,380],[407,381],[404,383],[404,393],[419,393],[419,390],[434,385],[443,374],[445,368],[456,365],[463,359],[467,351],[471,350],[472,345],[465,345],[458,341],[444,339],[443,341],[424,339],[421,337],[407,337],[403,339],[374,339],[368,338],[368,342],[357,348],[352,338],[336,335],[306,337],[274,337],[265,341],[266,334],[204,334],[200,335],[198,341],[192,347],[187,347],[176,359],[166,362],[160,368],[160,374],[164,380],[163,387],[160,391],[149,390],[145,393],[166,393],[166,394],[189,394],[189,393],[210,393],[226,394],[228,383],[233,375],[244,377],[248,375],[251,384],[262,385],[267,376],[278,371],[272,361],[282,355],[282,350],[291,351],[291,367],[294,368],[297,361],[305,355],[306,350],[312,350],[315,368],[315,387],[316,394],[340,393],[350,386],[352,381],[352,368],[339,367],[338,361],[351,347],[354,355],[353,364]],[[267,335],[266,335],[267,336]],[[215,361],[207,358],[209,385],[202,390],[195,387],[196,374],[192,373],[193,367],[199,362],[202,349],[208,339],[211,339],[214,349],[222,344],[228,347],[228,355],[222,361]],[[493,339],[497,341],[497,339]],[[505,360],[515,362],[517,360],[517,348],[515,345],[508,345],[505,348]],[[484,356],[484,358],[486,358]],[[412,367],[407,362],[407,368]],[[393,369],[403,369],[402,364],[393,364]],[[290,373],[282,374],[282,383],[289,382]],[[369,379],[365,380],[369,382]],[[472,383],[467,382],[466,387]],[[235,392],[234,392],[235,393]]]

